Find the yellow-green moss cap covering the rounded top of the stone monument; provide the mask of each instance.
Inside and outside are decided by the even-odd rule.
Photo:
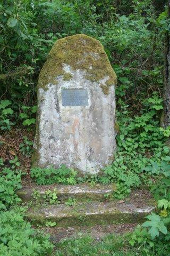
[[[46,90],[49,83],[57,83],[57,76],[70,80],[72,75],[65,72],[64,65],[69,65],[73,71],[77,69],[86,71],[86,78],[99,82],[105,94],[108,94],[109,86],[117,83],[116,74],[103,45],[92,37],[78,34],[59,39],[49,52],[40,72],[38,87]],[[105,77],[108,77],[106,86],[100,82]]]

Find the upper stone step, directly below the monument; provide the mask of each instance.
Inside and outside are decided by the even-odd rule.
[[[33,191],[39,191],[40,197],[43,198],[46,190],[56,189],[58,200],[66,201],[69,197],[76,199],[91,199],[95,201],[104,201],[106,194],[112,194],[115,190],[115,185],[101,185],[90,186],[90,183],[82,183],[79,185],[48,185],[48,186],[27,186],[17,191],[18,196],[23,202],[28,202],[33,199]]]

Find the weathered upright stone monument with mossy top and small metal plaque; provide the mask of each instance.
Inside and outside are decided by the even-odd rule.
[[[58,40],[38,81],[34,165],[97,173],[110,164],[116,148],[115,84],[99,41],[86,35]]]

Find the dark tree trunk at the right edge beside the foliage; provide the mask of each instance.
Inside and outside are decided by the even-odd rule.
[[[168,0],[168,17],[170,18],[170,0]],[[164,93],[164,127],[170,125],[170,35],[167,32],[165,60],[165,93]]]

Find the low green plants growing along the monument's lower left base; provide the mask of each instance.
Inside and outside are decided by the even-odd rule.
[[[34,167],[31,169],[31,177],[36,180],[38,185],[50,185],[53,183],[63,183],[64,185],[74,185],[77,172],[73,169],[61,165],[59,169],[53,167],[41,169]]]

